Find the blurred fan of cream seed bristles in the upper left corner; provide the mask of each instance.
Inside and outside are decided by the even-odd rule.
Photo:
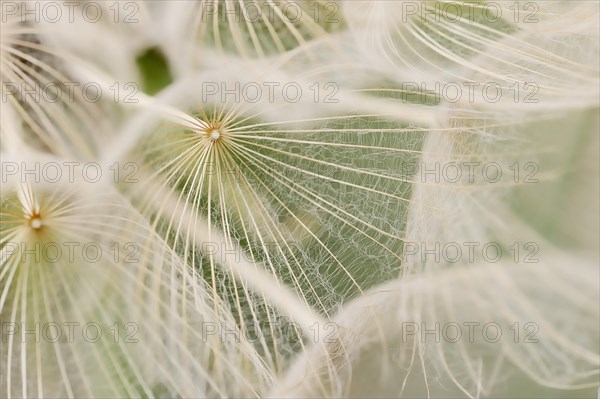
[[[90,156],[97,144],[89,133],[97,128],[92,121],[103,118],[68,71],[74,60],[46,44],[47,33],[39,24],[24,21],[19,12],[3,15],[0,123],[12,126],[2,132],[6,146],[26,144],[53,154]]]

